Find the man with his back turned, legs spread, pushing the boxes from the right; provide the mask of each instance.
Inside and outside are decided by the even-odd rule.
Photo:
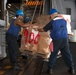
[[[74,62],[72,59],[72,55],[69,50],[69,43],[68,43],[68,33],[67,33],[67,22],[58,17],[58,11],[56,9],[51,9],[49,12],[51,17],[51,21],[43,28],[38,28],[38,31],[45,31],[47,32],[50,30],[50,36],[53,40],[54,51],[51,52],[48,64],[48,73],[50,75],[53,74],[52,69],[57,59],[57,54],[59,50],[61,51],[62,57],[67,65],[68,72],[71,74],[75,74],[74,70]]]

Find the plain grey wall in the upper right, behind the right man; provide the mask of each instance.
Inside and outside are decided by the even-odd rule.
[[[52,0],[52,8],[66,14],[66,8],[71,8],[71,27],[76,29],[76,3],[73,0]]]

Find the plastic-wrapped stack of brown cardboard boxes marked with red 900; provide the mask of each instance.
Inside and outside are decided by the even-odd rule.
[[[48,15],[36,18],[36,23],[34,25],[39,27],[44,27],[50,21]],[[36,54],[43,58],[49,58],[51,50],[49,48],[52,39],[50,37],[50,32],[39,32],[35,31],[33,28],[24,28],[21,40],[20,51],[25,53],[31,52],[31,54]]]

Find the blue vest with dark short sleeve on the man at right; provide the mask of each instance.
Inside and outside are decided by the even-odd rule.
[[[68,37],[66,25],[66,20],[56,17],[50,21],[43,29],[44,31],[50,30],[50,36],[52,39],[62,39]]]

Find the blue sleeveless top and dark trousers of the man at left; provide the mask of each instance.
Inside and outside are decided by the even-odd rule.
[[[6,33],[6,42],[8,45],[8,53],[10,62],[12,64],[18,63],[18,53],[19,53],[19,46],[18,46],[18,36],[20,31],[20,26],[14,25],[15,19],[12,21],[7,33]]]

